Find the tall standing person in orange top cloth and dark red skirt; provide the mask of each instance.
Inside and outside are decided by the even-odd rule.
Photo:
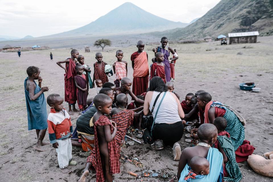
[[[148,88],[149,66],[148,54],[144,50],[144,42],[138,41],[138,51],[131,55],[133,72],[133,90],[132,92],[137,96],[146,92]]]

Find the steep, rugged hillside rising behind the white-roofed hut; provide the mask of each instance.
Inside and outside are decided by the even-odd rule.
[[[249,31],[259,31],[260,36],[273,35],[272,0],[222,0],[193,24],[160,35],[177,40]]]

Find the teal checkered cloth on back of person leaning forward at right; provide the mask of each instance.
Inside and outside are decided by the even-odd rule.
[[[245,139],[245,129],[241,121],[231,110],[227,109],[223,117],[227,120],[228,126],[225,130],[230,135],[230,139],[235,151]]]

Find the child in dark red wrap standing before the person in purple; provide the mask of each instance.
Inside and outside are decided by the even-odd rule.
[[[165,64],[164,61],[164,54],[162,52],[156,53],[156,63],[154,63],[151,67],[151,77],[152,79],[154,76],[159,76],[162,78],[164,83],[166,83],[166,77],[165,77]]]

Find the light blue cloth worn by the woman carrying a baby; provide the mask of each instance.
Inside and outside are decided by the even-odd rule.
[[[196,179],[191,179],[191,182],[216,182],[218,180],[223,165],[223,155],[217,148],[210,148],[208,150],[207,160],[210,162],[210,173]],[[189,168],[190,166],[186,164],[178,182],[187,182],[184,178],[189,174]]]

